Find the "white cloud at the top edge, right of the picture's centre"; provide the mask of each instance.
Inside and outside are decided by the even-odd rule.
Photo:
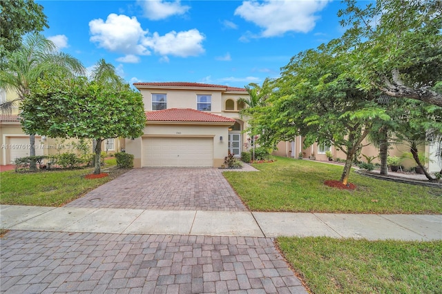
[[[327,3],[327,0],[244,1],[236,8],[235,15],[263,28],[261,37],[274,37],[289,31],[311,31],[318,19],[315,13],[325,8]]]

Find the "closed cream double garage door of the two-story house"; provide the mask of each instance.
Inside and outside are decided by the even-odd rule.
[[[213,138],[143,139],[143,166],[213,166]]]

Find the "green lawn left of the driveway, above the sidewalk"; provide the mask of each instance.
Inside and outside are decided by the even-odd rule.
[[[112,164],[106,161],[106,166]],[[93,173],[93,168],[39,173],[15,173],[14,170],[9,170],[0,173],[0,204],[61,206],[126,171],[116,169],[108,177],[85,179],[85,175]]]

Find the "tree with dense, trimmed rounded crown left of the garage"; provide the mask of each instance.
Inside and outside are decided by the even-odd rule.
[[[101,172],[99,156],[104,139],[139,137],[146,124],[140,92],[128,85],[112,88],[85,77],[68,82],[42,79],[32,86],[22,108],[27,133],[95,139],[95,174]]]

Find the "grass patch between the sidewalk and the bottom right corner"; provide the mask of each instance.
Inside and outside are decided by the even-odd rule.
[[[442,241],[280,237],[277,242],[313,293],[441,293]]]

